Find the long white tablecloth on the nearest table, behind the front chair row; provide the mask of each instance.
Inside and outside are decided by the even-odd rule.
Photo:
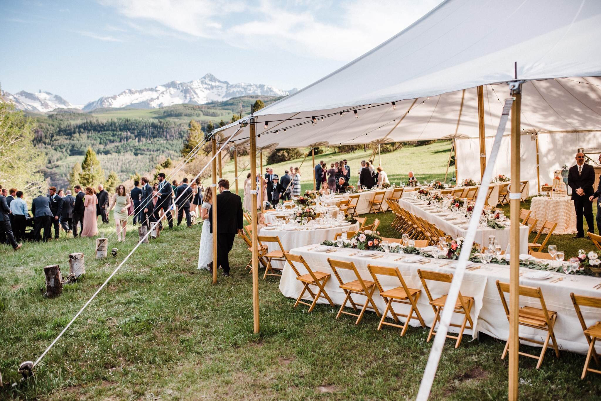
[[[332,277],[329,278],[325,289],[332,301],[337,305],[342,304],[345,295],[343,290],[338,287],[339,283],[328,264],[328,258],[354,262],[359,274],[361,274],[361,277],[370,281],[373,281],[373,278],[371,278],[371,275],[367,270],[368,264],[397,267],[403,275],[407,286],[422,290],[417,305],[419,312],[423,316],[426,325],[428,326],[432,325],[434,313],[432,307],[430,307],[428,304],[428,298],[423,290],[421,281],[419,280],[417,269],[448,273],[454,272],[453,268],[435,265],[432,263],[432,261],[426,265],[403,263],[402,261],[394,262],[394,260],[398,257],[396,254],[390,254],[388,259],[380,258],[373,260],[370,258],[365,259],[356,256],[349,256],[350,253],[355,252],[354,249],[339,249],[335,253],[325,254],[314,250],[308,251],[307,248],[310,248],[310,246],[291,249],[291,253],[302,255],[302,257],[304,257],[304,259],[307,261],[307,264],[311,266],[311,269],[314,271],[325,272],[332,275]],[[296,266],[299,269],[300,274],[307,273],[304,267],[300,264],[297,263]],[[507,340],[509,323],[507,321],[507,316],[505,315],[503,305],[501,304],[501,298],[499,297],[499,292],[496,288],[495,281],[499,280],[508,283],[510,269],[508,266],[501,265],[491,265],[491,267],[492,270],[490,271],[484,270],[484,268],[475,271],[466,271],[460,291],[462,295],[472,296],[474,298],[475,302],[474,307],[472,307],[471,317],[476,325],[476,331],[484,332],[501,340]],[[528,271],[528,269],[522,270]],[[342,270],[340,271],[340,274],[344,281],[355,280],[352,271]],[[599,296],[600,291],[594,290],[593,287],[596,286],[596,284],[601,283],[601,279],[595,277],[578,276],[579,281],[570,281],[569,278],[567,278],[564,274],[555,274],[555,276],[564,277],[564,280],[559,281],[558,283],[550,283],[550,281],[553,279],[544,281],[531,280],[522,276],[520,277],[520,284],[525,286],[541,287],[547,308],[558,313],[557,322],[555,323],[555,337],[557,338],[560,350],[569,350],[572,352],[585,354],[588,349],[588,344],[584,334],[582,334],[578,316],[576,316],[576,312],[572,305],[572,300],[570,299],[570,292],[574,292],[579,295]],[[382,283],[382,286],[385,290],[391,289],[392,287],[398,287],[400,285],[398,280],[394,277],[379,276],[378,279],[380,280],[380,283]],[[428,287],[435,298],[447,293],[449,286],[450,284],[439,283],[436,281],[428,282]],[[284,296],[294,299],[296,299],[301,293],[302,283],[299,280],[296,280],[296,274],[294,274],[294,271],[288,265],[285,266],[282,278],[279,281],[279,290]],[[505,299],[508,300],[508,297],[509,295],[505,294]],[[307,296],[305,299],[310,298]],[[361,304],[365,300],[364,297],[357,295],[353,295],[353,299]],[[386,305],[377,290],[374,293],[373,299],[374,302],[376,302],[380,312],[382,312]],[[328,301],[323,298],[320,298],[319,300],[320,304],[327,302]],[[520,297],[520,306],[525,305],[540,308],[540,302],[538,302],[537,299]],[[399,313],[407,314],[409,312],[409,306],[395,304],[394,310]],[[313,311],[313,313],[316,313],[316,311]],[[582,313],[587,325],[591,325],[599,320],[598,309],[582,307]],[[463,316],[459,316],[459,314],[454,314],[453,323],[460,322],[462,317]],[[343,318],[341,317],[341,319]],[[401,318],[401,321],[404,322],[404,318]],[[412,319],[410,325],[418,326],[419,321]],[[457,328],[450,328],[450,331],[453,332],[457,332],[457,330]],[[520,336],[534,338],[537,340],[540,340],[540,338],[546,334],[540,330],[526,328],[523,326],[520,326],[519,330]],[[466,329],[465,333],[472,334],[468,329]],[[525,344],[537,346],[536,344],[532,343]],[[599,347],[597,347],[597,352],[601,352],[601,344],[599,344]],[[553,359],[555,356],[548,355],[547,358]]]

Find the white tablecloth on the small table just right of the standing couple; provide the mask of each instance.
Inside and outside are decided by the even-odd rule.
[[[357,231],[359,230],[359,223],[350,224],[346,226],[349,231]],[[259,235],[263,236],[271,236],[271,237],[279,237],[279,242],[284,246],[284,250],[288,251],[292,248],[297,248],[299,246],[305,245],[314,245],[316,243],[322,243],[326,239],[334,240],[334,236],[337,233],[342,232],[342,227],[331,227],[331,228],[313,228],[311,230],[277,230],[277,229],[266,229],[261,228]],[[269,251],[279,251],[279,246],[277,242],[268,242],[267,249]],[[283,267],[282,262],[272,262],[272,265],[278,268]]]

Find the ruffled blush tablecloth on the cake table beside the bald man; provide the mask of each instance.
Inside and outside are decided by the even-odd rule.
[[[530,205],[530,217],[538,219],[534,231],[545,224],[545,221],[557,223],[554,234],[576,234],[576,211],[574,201],[569,197],[549,198],[534,197]]]

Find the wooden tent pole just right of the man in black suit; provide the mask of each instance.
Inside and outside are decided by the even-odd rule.
[[[256,127],[255,119],[251,118],[249,124],[250,152],[251,152],[251,183],[257,182],[257,139],[255,138]],[[234,153],[235,155],[235,153]],[[254,191],[257,191],[257,185],[254,185]],[[251,191],[251,216],[252,216],[252,321],[254,333],[259,332],[259,266],[258,266],[258,245],[257,245],[257,195]]]

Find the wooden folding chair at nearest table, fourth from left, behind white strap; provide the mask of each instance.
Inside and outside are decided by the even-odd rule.
[[[436,335],[436,332],[434,331],[434,329],[436,327],[436,322],[440,322],[440,320],[441,320],[441,313],[444,310],[445,302],[447,301],[447,294],[440,296],[439,298],[433,299],[432,293],[430,293],[430,290],[428,289],[428,284],[426,283],[426,281],[430,280],[430,281],[441,281],[442,283],[451,283],[451,281],[453,281],[453,275],[450,273],[447,274],[447,273],[440,273],[440,272],[432,272],[432,271],[421,270],[421,269],[417,269],[417,274],[419,275],[419,280],[421,280],[421,284],[423,284],[423,286],[424,286],[424,290],[426,290],[426,295],[428,296],[428,299],[430,300],[430,305],[432,305],[432,309],[434,310],[434,313],[435,313],[434,322],[432,323],[432,328],[430,328],[430,332],[429,332],[428,338],[426,340],[426,342],[430,342],[430,338],[432,338],[432,335]],[[455,323],[450,323],[450,326],[460,328],[459,334],[457,334],[457,336],[447,334],[447,338],[456,338],[457,339],[457,341],[455,343],[456,348],[459,347],[459,344],[461,344],[461,339],[463,338],[463,331],[465,331],[466,328],[468,328],[468,329],[474,328],[474,323],[472,322],[472,317],[469,316],[469,313],[472,310],[472,306],[474,306],[474,298],[472,298],[471,296],[463,296],[463,295],[461,295],[461,292],[459,292],[459,296],[457,296],[457,302],[455,302],[455,307],[453,309],[453,312],[464,314],[465,317],[463,318],[463,323],[461,325],[457,325]],[[469,326],[467,325],[468,322],[469,322]]]

